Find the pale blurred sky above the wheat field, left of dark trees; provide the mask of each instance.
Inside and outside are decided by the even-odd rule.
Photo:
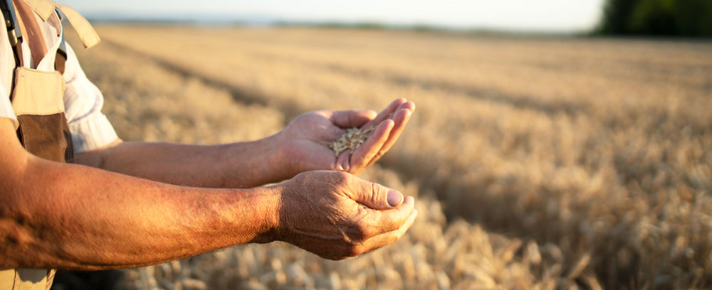
[[[56,0],[89,18],[189,18],[426,24],[522,32],[588,31],[604,0]]]

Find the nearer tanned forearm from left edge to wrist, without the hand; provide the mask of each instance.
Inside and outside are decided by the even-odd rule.
[[[276,223],[268,188],[170,186],[33,156],[23,167],[0,186],[0,268],[157,264],[266,242]]]

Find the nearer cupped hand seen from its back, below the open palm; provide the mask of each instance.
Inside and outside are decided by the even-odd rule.
[[[412,197],[349,173],[310,171],[273,188],[281,196],[276,240],[325,259],[389,245],[418,215]]]

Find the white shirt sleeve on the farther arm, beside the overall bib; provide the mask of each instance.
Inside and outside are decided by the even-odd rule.
[[[81,153],[106,146],[116,141],[118,136],[101,112],[104,96],[84,74],[69,43],[66,47],[64,109],[74,152]]]

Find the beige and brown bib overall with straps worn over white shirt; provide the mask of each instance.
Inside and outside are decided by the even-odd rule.
[[[24,41],[41,41],[41,37],[38,37],[38,23],[33,16],[28,17],[28,15],[35,13],[43,21],[47,21],[50,17],[58,17],[55,9],[59,9],[75,27],[85,47],[89,48],[99,42],[99,37],[88,21],[68,6],[48,0],[19,1],[15,1],[15,10]],[[58,33],[63,37],[61,26]],[[30,43],[31,51],[16,51],[19,54],[32,53],[35,67],[40,61],[49,62],[54,64],[55,70],[51,72],[36,70],[31,68],[31,64],[21,61],[15,68],[10,100],[19,122],[17,136],[22,146],[31,154],[43,159],[71,162],[74,151],[67,119],[64,116],[63,101],[65,87],[62,73],[66,59],[56,53],[59,44],[42,48],[42,45]],[[21,45],[17,45],[17,49],[22,50]],[[40,54],[37,50],[42,54],[39,57],[35,56]],[[54,274],[54,269],[0,269],[0,290],[49,289]]]

